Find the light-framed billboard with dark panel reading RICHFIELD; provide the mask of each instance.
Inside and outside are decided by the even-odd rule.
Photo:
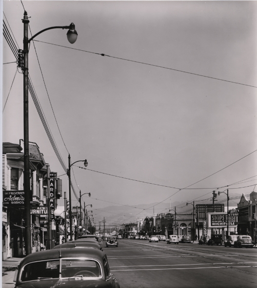
[[[228,218],[227,218],[228,217]],[[237,216],[227,213],[208,213],[208,228],[237,226]]]

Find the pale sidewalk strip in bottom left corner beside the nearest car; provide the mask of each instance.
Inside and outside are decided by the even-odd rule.
[[[2,261],[2,288],[14,288],[15,269],[23,258],[8,258]],[[13,270],[13,271],[12,271]]]

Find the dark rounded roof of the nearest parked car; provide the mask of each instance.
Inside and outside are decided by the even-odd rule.
[[[20,265],[25,265],[34,261],[51,260],[59,258],[93,258],[102,262],[103,256],[105,254],[101,250],[97,249],[74,249],[74,248],[64,248],[64,249],[52,249],[38,251],[36,253],[29,254],[20,263]]]

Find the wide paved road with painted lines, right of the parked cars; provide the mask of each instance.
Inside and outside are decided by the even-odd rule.
[[[121,288],[257,288],[257,250],[119,240],[104,248]]]

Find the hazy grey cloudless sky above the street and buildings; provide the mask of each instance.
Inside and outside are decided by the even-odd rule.
[[[71,22],[78,32],[74,44],[62,29],[37,36],[30,45],[29,75],[65,165],[68,153],[72,163],[88,161],[87,170],[76,167],[84,167],[79,162],[72,171],[77,194],[91,193],[82,196],[86,205],[115,210],[118,204],[149,204],[159,212],[159,202],[168,208],[170,202],[207,199],[239,181],[229,186],[230,194],[254,190],[256,1],[4,0],[3,19],[20,49],[22,4],[32,35]],[[2,41],[3,63],[15,61]],[[3,65],[3,142],[23,139],[23,77],[16,70],[16,63]],[[62,190],[68,192],[30,95],[29,140],[38,144],[51,171],[62,175]],[[194,189],[181,190],[185,187]],[[226,197],[221,195],[217,199]],[[230,202],[236,206],[239,200]],[[99,211],[93,214],[101,220]]]

